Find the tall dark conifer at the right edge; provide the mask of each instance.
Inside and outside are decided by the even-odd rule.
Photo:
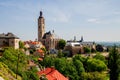
[[[110,80],[119,80],[120,75],[120,53],[116,46],[112,48],[109,54],[108,67],[110,69]]]

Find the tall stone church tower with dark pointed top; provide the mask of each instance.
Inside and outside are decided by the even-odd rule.
[[[40,16],[38,18],[38,41],[41,41],[45,34],[45,19],[40,11]]]

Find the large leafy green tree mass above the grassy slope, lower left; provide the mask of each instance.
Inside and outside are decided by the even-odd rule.
[[[21,50],[6,48],[0,61],[6,64],[14,73],[20,75],[23,80],[37,80],[34,69],[27,70],[28,57]]]

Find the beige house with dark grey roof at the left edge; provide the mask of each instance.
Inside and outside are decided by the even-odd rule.
[[[18,49],[19,41],[20,39],[13,33],[0,34],[0,48],[13,47],[15,49]]]

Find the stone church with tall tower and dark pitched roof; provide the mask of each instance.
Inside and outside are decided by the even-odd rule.
[[[42,42],[47,50],[50,50],[58,49],[59,40],[60,38],[56,36],[54,30],[45,32],[45,19],[42,11],[40,11],[40,16],[38,18],[38,41]]]

